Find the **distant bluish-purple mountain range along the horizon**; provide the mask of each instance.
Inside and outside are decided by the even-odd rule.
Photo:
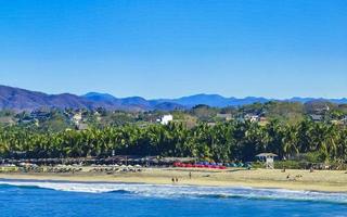
[[[149,111],[149,110],[184,110],[197,104],[206,104],[216,107],[241,106],[253,103],[266,103],[275,99],[248,97],[244,99],[224,98],[219,94],[196,94],[179,99],[146,100],[141,97],[115,98],[107,93],[89,92],[85,95],[70,93],[47,94],[20,88],[0,86],[0,110],[31,111],[40,107],[73,107],[73,108],[95,108]],[[309,101],[330,101],[338,104],[346,104],[347,99],[316,99],[316,98],[292,98],[290,102],[306,103]]]

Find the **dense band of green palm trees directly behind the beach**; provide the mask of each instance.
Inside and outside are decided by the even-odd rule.
[[[106,157],[115,154],[196,156],[215,161],[253,161],[261,152],[272,152],[280,158],[298,154],[314,156],[314,161],[347,159],[346,126],[303,120],[267,125],[250,122],[224,122],[216,126],[200,124],[187,128],[171,123],[147,126],[36,131],[18,126],[0,128],[0,157]]]

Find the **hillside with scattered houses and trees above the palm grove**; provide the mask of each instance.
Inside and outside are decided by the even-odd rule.
[[[102,107],[95,110],[42,107],[35,111],[0,111],[0,126],[37,126],[37,130],[57,132],[67,128],[79,128],[80,124],[95,128],[120,127],[129,124],[144,126],[155,123],[165,114],[171,114],[175,122],[182,123],[189,128],[201,123],[244,120],[256,116],[262,123],[275,119],[284,124],[297,124],[305,118],[310,118],[316,122],[347,125],[346,104],[333,104],[326,101],[312,101],[305,104],[271,101],[237,107],[196,105],[192,108],[175,111],[110,111]],[[78,117],[80,119],[76,119]]]

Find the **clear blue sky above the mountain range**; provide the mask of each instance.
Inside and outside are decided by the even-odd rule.
[[[346,0],[0,0],[0,84],[347,97]]]

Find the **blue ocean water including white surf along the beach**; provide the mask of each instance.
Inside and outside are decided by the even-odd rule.
[[[347,216],[347,194],[0,180],[0,216]]]

